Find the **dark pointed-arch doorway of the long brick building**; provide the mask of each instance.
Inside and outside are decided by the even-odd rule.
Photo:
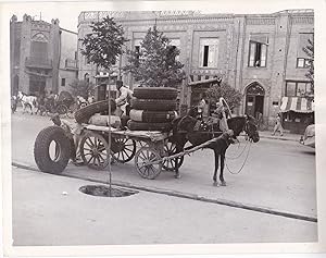
[[[264,114],[265,89],[256,82],[246,88],[246,113],[256,118]]]

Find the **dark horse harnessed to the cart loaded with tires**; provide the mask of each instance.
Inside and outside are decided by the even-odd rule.
[[[220,131],[218,124],[208,124],[195,118],[191,118],[190,115],[178,118],[173,121],[173,135],[171,137],[171,142],[176,145],[176,153],[184,150],[184,147],[188,140],[190,142],[190,144],[192,144],[191,147],[195,147],[217,137],[215,142],[205,147],[214,150],[214,185],[217,185],[216,175],[218,170],[218,157],[221,157],[220,181],[223,186],[226,185],[223,175],[225,152],[228,146],[234,143],[234,139],[236,139],[236,137],[239,136],[242,131],[244,131],[244,133],[248,135],[249,140],[252,140],[253,143],[260,140],[260,136],[255,125],[255,119],[253,116],[244,115],[230,118],[227,120],[227,124],[233,133],[222,133]],[[191,147],[188,147],[186,149],[189,149]],[[179,177],[179,160],[180,158],[175,159],[176,177]]]

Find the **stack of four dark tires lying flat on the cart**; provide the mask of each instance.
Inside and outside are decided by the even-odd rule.
[[[171,131],[171,122],[177,118],[177,89],[171,87],[134,88],[128,128],[131,131]]]

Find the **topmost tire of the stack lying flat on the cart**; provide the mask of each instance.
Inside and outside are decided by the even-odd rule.
[[[178,90],[171,87],[136,87],[134,97],[138,99],[171,99],[178,97]]]

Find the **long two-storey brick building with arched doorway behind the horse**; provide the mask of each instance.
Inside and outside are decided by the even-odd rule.
[[[259,111],[272,125],[275,115],[285,112],[286,127],[296,128],[312,112],[311,105],[302,98],[310,90],[305,77],[309,60],[302,47],[314,33],[313,10],[248,15],[196,11],[82,12],[78,38],[91,32],[91,22],[106,15],[124,27],[129,39],[127,49],[137,48],[154,24],[180,49],[179,61],[187,74],[179,86],[183,106],[196,105],[200,93],[210,85],[193,82],[222,77],[243,96],[236,113],[255,115]],[[78,76],[95,82],[98,70],[80,54],[80,47]],[[134,87],[137,84],[133,77],[121,73],[125,63],[126,57],[120,57],[111,83],[122,76],[124,84]],[[286,110],[285,106],[291,109]]]

